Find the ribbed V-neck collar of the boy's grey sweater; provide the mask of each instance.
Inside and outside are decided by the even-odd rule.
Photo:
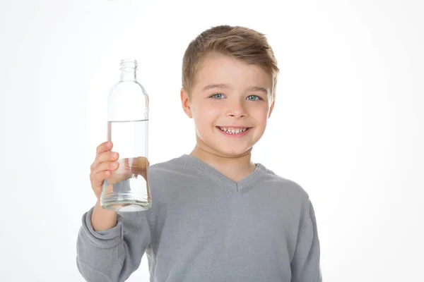
[[[240,181],[234,181],[191,154],[183,154],[180,159],[185,164],[192,166],[192,168],[195,168],[197,171],[204,174],[204,176],[211,178],[211,180],[213,180],[216,184],[221,187],[228,188],[233,192],[244,192],[245,190],[253,188],[266,174],[266,168],[262,164],[258,163],[252,173],[245,178],[242,178]]]

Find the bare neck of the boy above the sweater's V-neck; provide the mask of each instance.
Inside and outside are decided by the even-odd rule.
[[[252,162],[251,150],[241,156],[225,157],[208,152],[196,145],[190,154],[235,181],[245,178],[256,168],[256,165]]]

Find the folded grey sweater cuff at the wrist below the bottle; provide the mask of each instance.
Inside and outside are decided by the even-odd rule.
[[[107,229],[105,231],[95,231],[93,225],[91,224],[91,215],[93,214],[93,209],[88,210],[83,214],[82,218],[82,229],[83,235],[86,239],[95,247],[109,248],[117,245],[123,238],[124,233],[122,232],[122,222],[119,221],[119,214],[117,215],[117,225]]]

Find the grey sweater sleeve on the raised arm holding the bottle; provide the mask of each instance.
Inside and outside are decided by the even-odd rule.
[[[78,271],[88,282],[126,281],[151,243],[151,210],[118,214],[117,226],[101,232],[93,230],[92,213],[93,208],[83,215],[78,233]]]

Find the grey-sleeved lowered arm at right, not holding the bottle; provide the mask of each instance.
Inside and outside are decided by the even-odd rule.
[[[322,282],[317,221],[310,200],[307,200],[304,208],[295,255],[290,264],[291,282]]]

